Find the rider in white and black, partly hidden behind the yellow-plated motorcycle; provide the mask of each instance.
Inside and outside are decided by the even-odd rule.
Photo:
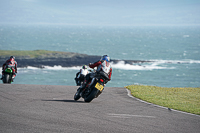
[[[76,73],[76,84],[81,85],[81,82],[85,81],[85,77],[88,74],[87,65],[83,65],[78,73]]]

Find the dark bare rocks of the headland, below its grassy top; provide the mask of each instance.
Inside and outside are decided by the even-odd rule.
[[[2,65],[9,56],[0,56],[0,65]],[[16,57],[15,60],[17,61],[18,67],[38,67],[43,68],[43,66],[55,66],[60,65],[62,67],[72,67],[72,66],[82,66],[87,65],[89,63],[93,63],[98,61],[101,56],[92,56],[92,55],[85,55],[85,54],[75,54],[73,56],[40,56],[36,58],[30,57]],[[119,61],[124,61],[126,64],[133,64],[133,63],[144,63],[149,61],[141,61],[141,60],[111,60],[113,63],[118,63]]]

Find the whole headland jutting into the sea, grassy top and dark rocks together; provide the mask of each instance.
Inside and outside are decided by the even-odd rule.
[[[5,51],[0,50],[0,65],[2,65],[9,57],[15,56],[18,67],[39,67],[60,65],[62,67],[82,66],[88,65],[98,61],[101,56],[86,55],[73,52],[59,52],[59,51]],[[111,60],[113,63],[124,61],[125,63],[143,63],[149,61],[141,60]]]

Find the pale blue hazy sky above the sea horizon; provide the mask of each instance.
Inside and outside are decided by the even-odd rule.
[[[200,0],[0,0],[0,24],[200,25]]]

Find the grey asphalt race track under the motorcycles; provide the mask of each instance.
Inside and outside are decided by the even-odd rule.
[[[199,133],[200,116],[140,102],[106,87],[91,103],[76,86],[0,84],[1,133]]]

